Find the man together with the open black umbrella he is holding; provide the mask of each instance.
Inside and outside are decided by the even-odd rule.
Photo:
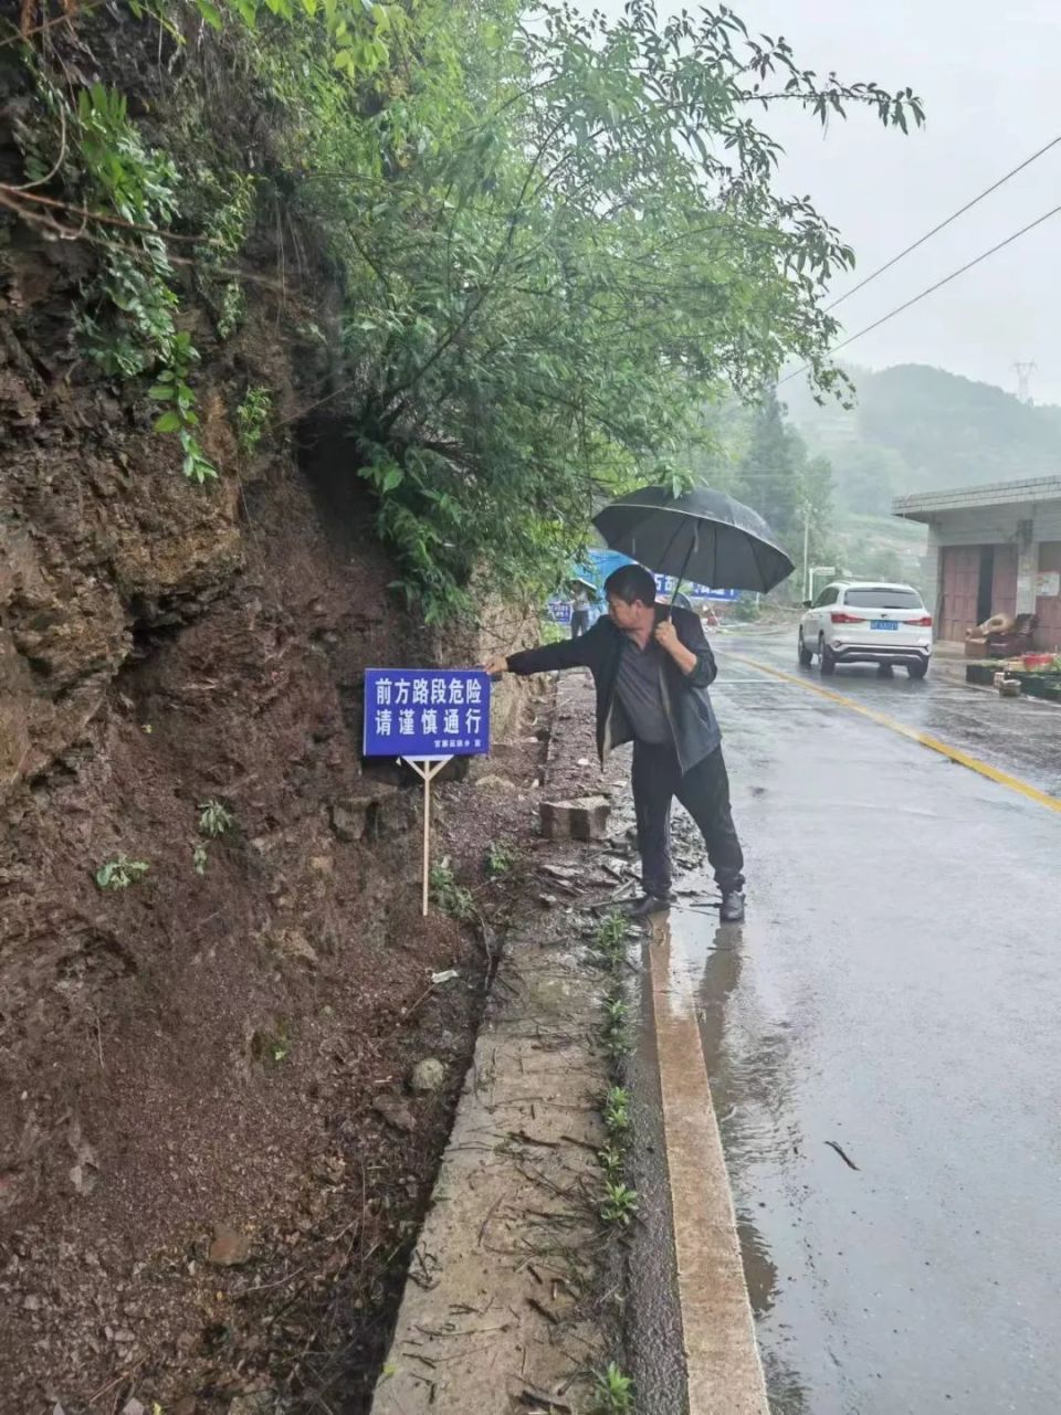
[[[647,917],[670,897],[670,804],[684,805],[707,845],[724,923],[744,918],[744,856],[730,814],[721,733],[708,698],[715,661],[696,614],[679,607],[691,576],[700,584],[766,593],[792,574],[788,553],[762,516],[741,501],[694,487],[643,487],[611,502],[594,525],[623,565],[605,582],[608,617],[581,638],[494,659],[489,672],[588,668],[596,683],[596,746],[633,741],[633,802]],[[670,608],[656,604],[649,573],[676,574]]]

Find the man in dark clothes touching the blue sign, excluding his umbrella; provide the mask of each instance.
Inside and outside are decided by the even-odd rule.
[[[588,668],[596,686],[596,746],[633,741],[633,802],[645,897],[633,916],[670,903],[670,805],[688,811],[707,845],[722,894],[721,917],[744,918],[744,855],[730,811],[730,780],[708,686],[717,675],[700,618],[656,604],[656,580],[623,565],[605,582],[608,614],[578,638],[487,664],[489,674]]]

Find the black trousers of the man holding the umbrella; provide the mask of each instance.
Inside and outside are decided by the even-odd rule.
[[[677,797],[707,845],[707,857],[724,894],[744,889],[744,853],[730,811],[730,777],[715,747],[684,775],[670,746],[633,744],[633,805],[646,894],[670,891],[670,802]]]

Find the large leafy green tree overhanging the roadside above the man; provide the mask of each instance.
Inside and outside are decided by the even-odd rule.
[[[773,192],[751,113],[919,120],[908,91],[819,82],[730,11],[509,14],[476,45],[477,120],[337,212],[365,277],[353,422],[429,614],[476,569],[509,591],[552,577],[595,494],[683,466],[707,396],[793,351],[834,385],[817,296],[851,253]]]

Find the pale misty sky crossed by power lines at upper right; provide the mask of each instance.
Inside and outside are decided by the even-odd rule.
[[[609,14],[622,11],[622,0],[598,3]],[[1061,134],[1057,0],[730,3],[749,28],[783,34],[800,65],[890,89],[909,85],[925,102],[925,127],[908,137],[885,132],[868,113],[832,125],[824,136],[806,115],[775,109],[759,120],[786,149],[782,187],[810,195],[854,246],[858,275],[850,283]],[[660,0],[660,13],[679,8]],[[837,317],[849,333],[871,324],[1058,204],[1061,144],[874,280]],[[870,368],[936,364],[1014,392],[1014,361],[1034,359],[1033,398],[1061,403],[1060,252],[1061,214],[857,340],[843,358]]]

